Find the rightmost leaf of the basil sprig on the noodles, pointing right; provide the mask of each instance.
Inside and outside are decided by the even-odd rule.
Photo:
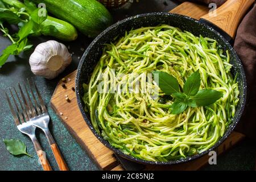
[[[203,89],[199,90],[196,96],[192,97],[192,100],[196,101],[197,106],[208,106],[219,100],[222,96],[222,92]]]

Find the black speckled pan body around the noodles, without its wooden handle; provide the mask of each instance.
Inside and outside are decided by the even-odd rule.
[[[233,1],[233,0],[229,0]],[[247,0],[245,0],[247,1]],[[223,6],[223,5],[222,5]],[[241,9],[241,7],[240,7]],[[207,23],[205,23],[207,22]],[[122,156],[123,158],[132,160],[133,162],[142,163],[142,164],[176,164],[181,162],[188,162],[189,160],[199,158],[204,154],[208,154],[209,151],[214,150],[218,145],[220,145],[234,130],[238,121],[241,118],[243,109],[245,107],[246,102],[246,78],[245,72],[243,70],[242,63],[237,56],[237,53],[234,51],[233,47],[226,39],[230,39],[228,34],[224,34],[222,36],[220,32],[214,30],[213,27],[208,25],[208,21],[204,20],[204,22],[200,22],[196,19],[189,18],[188,16],[179,15],[179,14],[170,14],[170,13],[149,13],[149,14],[141,14],[137,16],[133,16],[120,22],[117,22],[103,31],[100,35],[97,36],[96,39],[90,44],[90,46],[86,49],[84,55],[81,58],[79,67],[77,69],[77,76],[76,76],[76,96],[77,102],[79,104],[79,108],[82,113],[82,117],[86,124],[90,127],[93,134],[108,148],[114,151],[116,154]],[[204,37],[212,38],[217,40],[217,42],[222,46],[224,52],[226,50],[230,53],[230,63],[233,64],[232,68],[232,75],[238,74],[237,81],[238,81],[238,88],[240,90],[239,95],[239,103],[236,109],[236,114],[234,115],[232,125],[226,130],[224,136],[218,140],[213,147],[209,148],[209,150],[204,151],[200,154],[189,156],[185,159],[179,160],[171,160],[169,162],[151,162],[147,160],[137,159],[133,156],[126,155],[122,151],[119,151],[117,148],[112,147],[108,141],[104,140],[97,132],[94,130],[92,123],[90,122],[89,114],[86,114],[84,111],[84,102],[82,101],[82,96],[84,96],[84,91],[82,89],[83,83],[89,82],[89,75],[93,72],[94,67],[96,66],[98,60],[100,60],[102,54],[102,48],[104,47],[105,43],[110,43],[116,36],[123,36],[125,31],[131,30],[131,28],[140,28],[140,27],[147,27],[147,26],[157,26],[159,24],[169,24],[174,27],[179,27],[181,30],[186,30],[191,32],[192,34],[199,36],[202,35]],[[222,32],[223,33],[223,32]],[[230,39],[231,40],[231,39]]]

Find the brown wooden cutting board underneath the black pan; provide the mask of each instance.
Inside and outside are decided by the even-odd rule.
[[[171,10],[170,13],[183,14],[191,16],[192,18],[199,19],[204,14],[207,14],[209,9],[202,5],[196,5],[191,2],[184,2]],[[75,77],[76,71],[72,72],[65,77],[65,88],[61,86],[63,81],[57,84],[55,92],[51,98],[51,106],[53,110],[59,115],[61,121],[67,127],[69,132],[75,137],[77,142],[81,145],[84,150],[88,152],[90,157],[95,160],[98,167],[102,170],[123,170],[121,164],[115,159],[113,151],[105,147],[90,131],[86,125],[82,114],[80,113],[79,107],[76,101],[76,94],[72,88],[75,88]],[[68,81],[69,80],[69,81]],[[65,100],[65,97],[69,98],[69,102]],[[240,142],[245,135],[237,132],[230,134],[217,149],[217,154],[220,155],[226,150],[230,149],[234,144]],[[171,166],[144,166],[147,170],[197,170],[208,164],[208,155],[204,155],[199,159],[192,160],[191,162],[175,164]]]

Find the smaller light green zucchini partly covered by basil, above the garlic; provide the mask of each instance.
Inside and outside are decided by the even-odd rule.
[[[18,0],[0,0],[0,2],[3,2],[7,6],[15,7],[16,9],[24,8],[28,14],[31,13],[31,11],[27,9],[26,5]],[[41,28],[41,33],[43,35],[53,36],[60,40],[72,41],[77,38],[76,28],[72,26],[72,24],[53,18],[52,16],[47,16],[47,19],[41,24]]]

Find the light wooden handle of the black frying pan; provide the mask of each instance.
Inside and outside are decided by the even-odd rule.
[[[253,3],[254,0],[228,0],[217,9],[217,16],[208,13],[201,18],[216,24],[234,39],[238,25]]]

